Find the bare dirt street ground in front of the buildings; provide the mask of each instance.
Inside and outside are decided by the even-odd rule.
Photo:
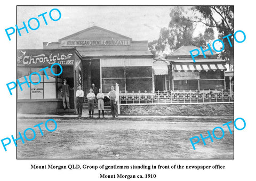
[[[18,141],[18,159],[233,159],[234,134],[223,127],[233,119],[212,118],[120,118],[120,119],[54,119],[58,128],[44,135],[38,128],[33,141]],[[18,118],[18,131],[46,119]],[[54,124],[49,122],[49,128]],[[222,139],[208,138],[193,149],[189,138],[207,136],[207,130],[220,126]],[[233,124],[230,125],[234,133]],[[215,135],[221,137],[217,129]],[[32,138],[31,131],[26,136]],[[212,136],[213,137],[213,136]]]

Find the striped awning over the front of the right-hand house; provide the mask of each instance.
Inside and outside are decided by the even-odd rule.
[[[201,63],[201,64],[173,64],[173,70],[174,71],[209,71],[209,70],[213,70],[213,71],[216,71],[216,70],[221,70],[221,71],[224,71],[224,70],[227,70],[227,68],[225,67],[224,64],[221,64],[221,63]]]

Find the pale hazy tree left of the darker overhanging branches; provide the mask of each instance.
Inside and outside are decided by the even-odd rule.
[[[206,47],[206,43],[214,37],[213,29],[208,27],[204,34],[201,33],[197,37],[193,37],[196,26],[195,22],[186,17],[189,12],[191,12],[191,7],[173,7],[171,9],[169,27],[162,28],[159,38],[148,44],[151,53],[163,55],[166,47],[171,52],[185,45]]]

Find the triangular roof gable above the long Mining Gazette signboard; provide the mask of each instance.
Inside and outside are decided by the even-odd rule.
[[[64,38],[59,39],[59,42],[62,40],[95,40],[95,39],[130,39],[132,38],[126,37],[121,34],[117,34],[116,32],[109,31],[104,28],[100,28],[97,26],[93,26],[82,31],[78,31],[75,34],[66,36]]]

